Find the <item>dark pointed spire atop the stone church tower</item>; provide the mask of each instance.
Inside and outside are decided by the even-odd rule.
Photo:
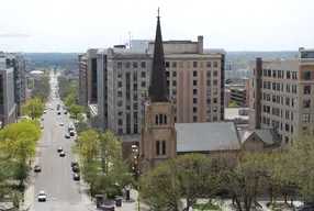
[[[169,102],[169,89],[167,85],[165,55],[158,8],[157,29],[154,47],[153,69],[150,86],[148,89],[150,102]]]

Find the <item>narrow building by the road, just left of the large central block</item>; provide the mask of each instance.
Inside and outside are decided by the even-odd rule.
[[[90,48],[78,56],[79,62],[79,102],[85,108],[97,103],[97,51]]]

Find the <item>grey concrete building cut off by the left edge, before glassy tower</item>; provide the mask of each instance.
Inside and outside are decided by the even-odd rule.
[[[16,121],[14,102],[14,68],[7,68],[5,58],[0,58],[0,122],[5,126]]]

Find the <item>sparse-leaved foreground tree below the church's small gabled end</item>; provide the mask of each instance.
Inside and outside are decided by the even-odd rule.
[[[237,210],[249,211],[251,204],[257,203],[256,197],[263,184],[265,153],[239,151],[218,154],[214,159],[220,168],[221,189],[233,196]]]

